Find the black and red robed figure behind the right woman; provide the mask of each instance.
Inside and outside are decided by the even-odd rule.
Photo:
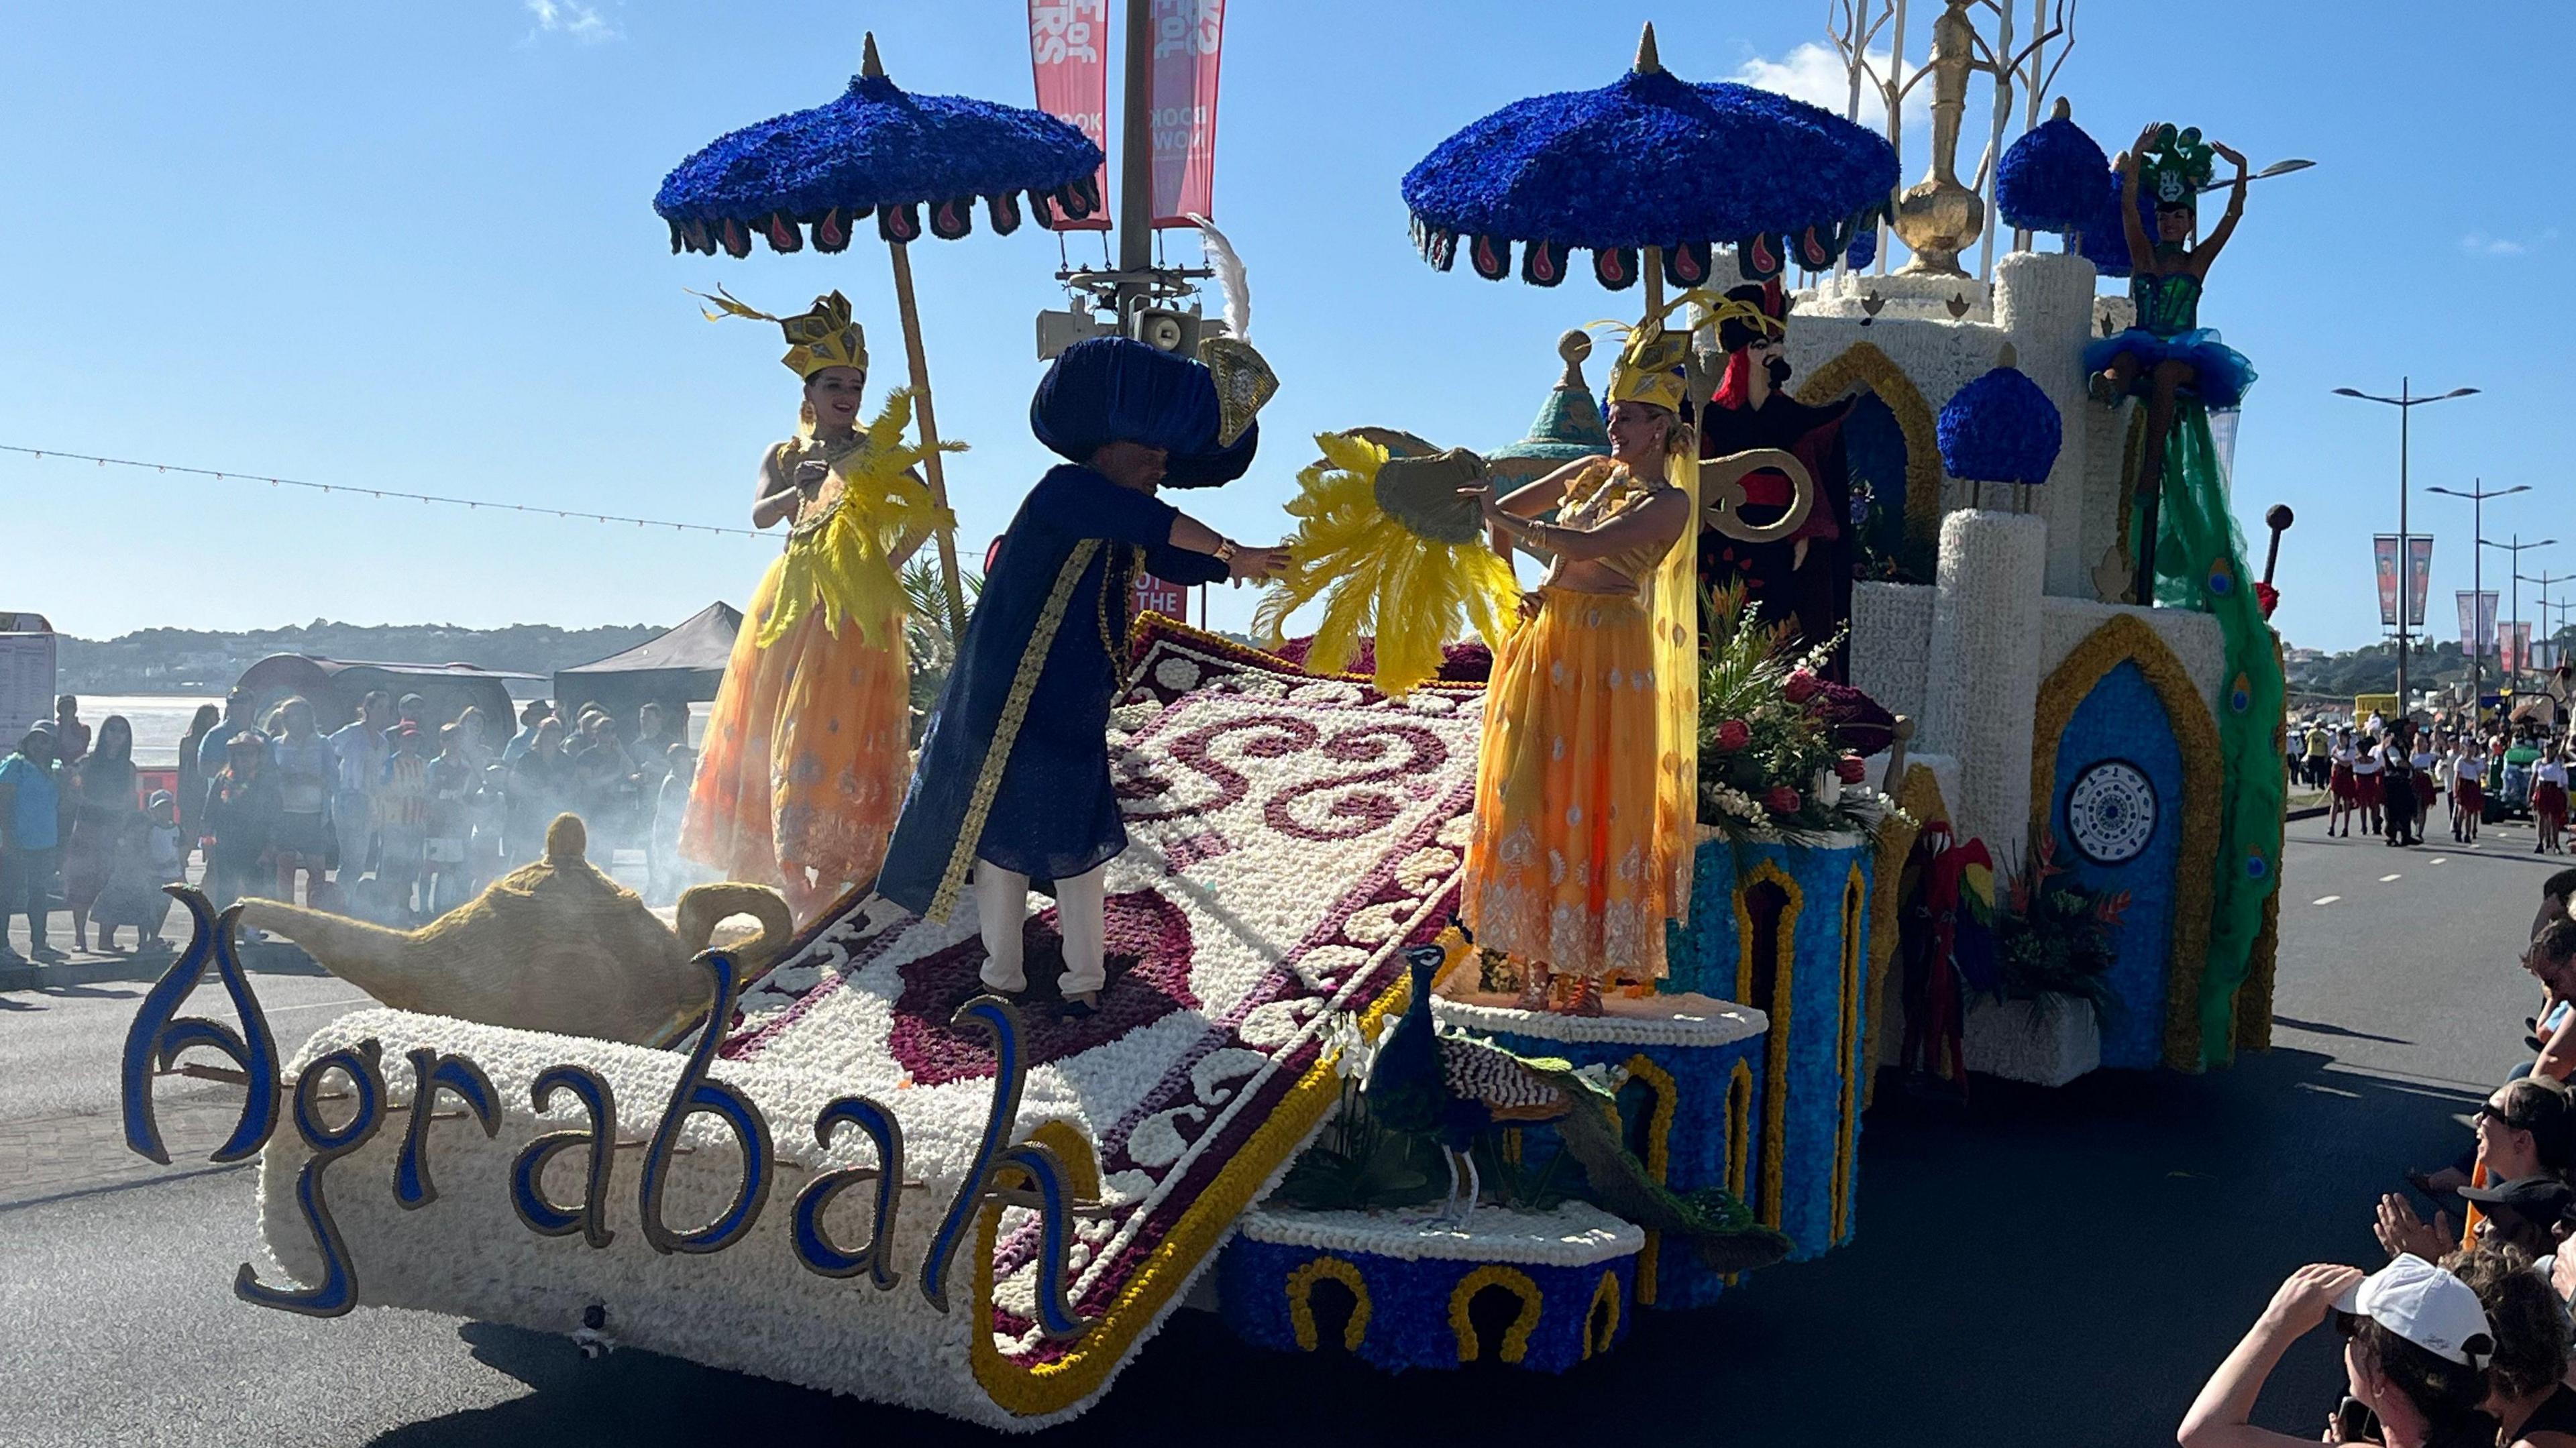
[[[1726,371],[1700,412],[1700,593],[1741,585],[1765,621],[1795,624],[1819,644],[1852,616],[1852,482],[1842,461],[1852,405],[1808,407],[1783,392],[1788,296],[1777,281],[1736,286],[1716,322]],[[1785,456],[1721,464],[1757,451]],[[1834,649],[1837,683],[1842,670],[1844,649]]]

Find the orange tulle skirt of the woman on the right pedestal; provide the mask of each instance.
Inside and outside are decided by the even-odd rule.
[[[1646,608],[1564,587],[1543,600],[1486,685],[1461,915],[1515,961],[1659,979],[1674,861],[1656,840]]]

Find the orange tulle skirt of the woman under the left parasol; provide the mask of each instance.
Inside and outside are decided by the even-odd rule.
[[[760,577],[734,636],[680,853],[750,884],[775,886],[801,868],[824,889],[868,884],[912,778],[902,621],[878,629],[894,647],[871,647],[855,621],[842,618],[835,636],[811,608],[760,647],[783,569],[786,557]]]

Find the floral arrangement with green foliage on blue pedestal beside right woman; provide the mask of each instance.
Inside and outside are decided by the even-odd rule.
[[[1868,835],[1896,801],[1868,783],[1844,747],[1824,680],[1842,631],[1790,652],[1793,631],[1762,621],[1741,587],[1710,595],[1700,665],[1700,822],[1728,840],[1819,843]]]

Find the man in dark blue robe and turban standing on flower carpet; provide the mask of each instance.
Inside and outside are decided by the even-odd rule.
[[[1002,995],[1028,989],[1028,889],[1051,884],[1069,1015],[1097,1010],[1108,984],[1100,876],[1126,850],[1108,719],[1136,575],[1257,582],[1285,562],[1157,497],[1252,466],[1252,407],[1275,384],[1249,348],[1216,358],[1257,368],[1226,379],[1226,405],[1208,366],[1126,338],[1066,348],[1038,384],[1028,425],[1066,464],[1020,502],[984,575],[876,881],[894,904],[945,920],[971,876],[979,974]]]

